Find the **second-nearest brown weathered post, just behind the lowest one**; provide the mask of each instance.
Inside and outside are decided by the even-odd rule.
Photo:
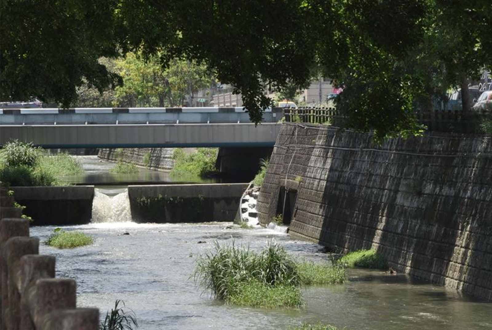
[[[35,284],[27,289],[27,305],[31,311],[31,319],[36,329],[55,328],[56,323],[50,323],[53,328],[43,328],[48,314],[62,314],[62,309],[72,309],[76,305],[75,280],[66,278],[44,278],[36,280]],[[86,329],[86,328],[72,328]]]

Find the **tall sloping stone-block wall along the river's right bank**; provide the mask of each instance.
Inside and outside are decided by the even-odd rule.
[[[369,133],[285,124],[257,210],[262,224],[283,212],[294,236],[376,249],[400,272],[492,300],[491,178],[490,136],[378,146]]]

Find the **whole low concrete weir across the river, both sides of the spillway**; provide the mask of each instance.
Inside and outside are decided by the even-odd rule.
[[[97,204],[95,209],[99,211],[104,207],[96,198],[105,197],[96,194],[94,186],[11,187],[11,190],[16,201],[26,206],[24,214],[32,217],[34,226],[62,226],[88,224],[94,221],[94,216],[97,222],[233,221],[246,187],[246,183],[129,186],[131,214],[125,217],[118,210],[94,215],[94,205]],[[108,208],[118,207],[114,202],[106,204]]]

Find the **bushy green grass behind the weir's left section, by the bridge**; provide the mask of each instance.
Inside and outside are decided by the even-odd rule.
[[[49,156],[32,143],[14,140],[0,149],[0,181],[10,186],[63,186],[63,177],[82,172],[72,156]]]

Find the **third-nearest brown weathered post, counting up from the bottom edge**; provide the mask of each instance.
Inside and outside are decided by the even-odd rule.
[[[19,263],[19,292],[21,293],[22,330],[35,330],[29,310],[28,291],[38,279],[55,277],[55,257],[26,255]]]

